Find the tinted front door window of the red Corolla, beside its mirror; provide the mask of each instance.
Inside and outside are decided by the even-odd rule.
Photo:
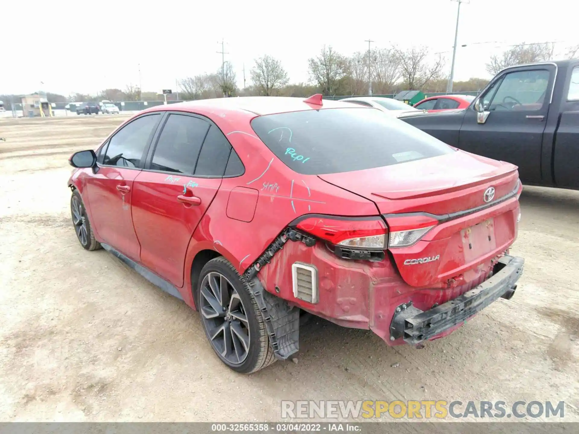
[[[139,117],[113,135],[102,164],[138,167],[160,114]]]

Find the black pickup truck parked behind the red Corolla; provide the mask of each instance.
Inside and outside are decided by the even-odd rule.
[[[579,59],[505,68],[466,109],[400,119],[456,148],[518,165],[528,185],[579,189]]]

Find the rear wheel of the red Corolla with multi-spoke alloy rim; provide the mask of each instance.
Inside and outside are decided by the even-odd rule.
[[[205,264],[196,302],[211,347],[230,369],[248,374],[276,360],[251,288],[228,260]]]

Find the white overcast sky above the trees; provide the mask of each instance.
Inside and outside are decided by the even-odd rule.
[[[291,82],[307,82],[307,59],[324,44],[351,54],[368,49],[365,39],[426,45],[444,53],[448,73],[457,12],[450,0],[0,2],[0,94],[175,89],[176,79],[221,67],[222,38],[239,87],[243,64],[249,85],[263,54],[278,58]],[[455,80],[487,77],[490,54],[508,45],[556,41],[564,52],[579,43],[576,1],[470,0],[460,9]]]

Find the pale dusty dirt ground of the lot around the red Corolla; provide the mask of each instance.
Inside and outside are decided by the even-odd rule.
[[[277,421],[281,399],[459,399],[565,400],[579,421],[579,192],[525,188],[514,298],[445,339],[388,348],[313,319],[298,363],[242,376],[197,312],[76,240],[68,157],[122,120],[0,120],[0,420]]]

